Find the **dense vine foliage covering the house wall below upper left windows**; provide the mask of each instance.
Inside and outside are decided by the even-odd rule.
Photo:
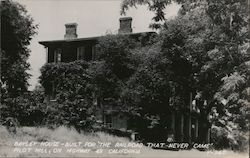
[[[54,91],[58,94],[57,100],[63,102],[72,101],[74,98],[81,98],[89,93],[86,85],[88,64],[85,61],[71,63],[48,63],[41,68],[41,84],[48,92]],[[73,82],[74,81],[74,82]]]

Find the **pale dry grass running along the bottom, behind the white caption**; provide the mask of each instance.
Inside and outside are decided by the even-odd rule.
[[[67,149],[78,149],[80,147],[64,147],[60,146],[62,151],[60,153],[53,153],[53,149],[58,147],[46,147],[42,146],[44,152],[34,152],[34,148],[41,148],[39,145],[33,145],[29,148],[32,148],[30,152],[19,153],[13,152],[15,147],[10,144],[14,144],[15,142],[60,142],[60,143],[69,143],[69,142],[110,142],[111,145],[108,148],[103,149],[103,153],[101,154],[102,157],[154,157],[157,155],[158,157],[192,157],[196,155],[198,157],[207,157],[208,154],[216,157],[237,157],[237,158],[246,158],[247,154],[242,153],[235,153],[232,151],[213,151],[209,152],[200,152],[198,150],[180,150],[176,151],[166,151],[166,150],[153,150],[151,148],[142,147],[138,148],[140,150],[140,154],[109,154],[109,149],[114,149],[114,145],[118,143],[132,143],[126,138],[115,137],[113,135],[109,135],[104,132],[96,132],[96,133],[86,133],[86,132],[77,132],[73,128],[67,128],[65,126],[60,126],[56,129],[48,129],[46,127],[20,127],[17,128],[17,132],[15,135],[10,133],[4,126],[0,126],[0,156],[1,157],[98,157],[100,154],[96,153],[96,150],[99,149],[95,147],[89,147],[91,149],[90,153],[70,153],[67,152]],[[19,148],[20,149],[20,148]],[[47,151],[51,150],[51,153],[46,153]],[[86,148],[80,148],[86,149]],[[116,149],[122,149],[122,147],[116,147]],[[134,148],[135,149],[135,148]],[[137,149],[137,148],[136,148]]]

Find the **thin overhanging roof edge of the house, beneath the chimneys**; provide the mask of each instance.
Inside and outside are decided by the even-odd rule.
[[[156,34],[156,32],[149,31],[149,32],[138,32],[138,33],[128,33],[122,35],[131,35],[131,36],[139,36],[142,34]],[[86,38],[75,38],[75,39],[63,39],[63,40],[50,40],[50,41],[39,41],[38,43],[49,46],[53,44],[63,44],[63,43],[75,43],[75,42],[83,42],[83,41],[94,41],[97,42],[99,38],[104,36],[95,36],[95,37],[86,37]]]

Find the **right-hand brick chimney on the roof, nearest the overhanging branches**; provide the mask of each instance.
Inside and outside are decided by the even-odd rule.
[[[120,28],[118,30],[119,34],[132,33],[132,18],[124,17],[120,18]]]

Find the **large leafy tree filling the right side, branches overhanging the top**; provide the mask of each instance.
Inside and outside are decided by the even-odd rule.
[[[182,7],[177,18],[166,21],[164,8],[171,2]],[[162,5],[158,6],[159,3]],[[121,10],[124,13],[136,5],[158,10],[153,19],[156,24],[165,20],[160,26],[158,40],[161,53],[157,53],[158,60],[149,65],[165,70],[157,74],[168,76],[164,81],[170,84],[170,97],[177,96],[174,102],[180,105],[185,103],[183,94],[196,93],[196,98],[204,103],[196,105],[202,117],[213,124],[212,138],[217,141],[216,147],[228,142],[227,147],[241,148],[240,140],[246,139],[249,127],[249,114],[246,113],[249,110],[250,69],[247,1],[124,0]],[[150,72],[156,71],[151,69]],[[143,82],[141,79],[136,87],[148,87],[140,84]],[[219,134],[216,128],[224,132]],[[220,135],[224,140],[218,139]]]

